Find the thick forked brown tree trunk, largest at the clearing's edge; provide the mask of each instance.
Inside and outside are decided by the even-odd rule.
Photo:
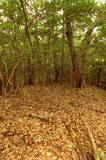
[[[80,63],[76,48],[74,46],[74,38],[73,38],[74,21],[71,18],[71,15],[69,15],[70,12],[68,12],[71,9],[72,2],[70,2],[69,0],[67,1],[63,0],[63,5],[64,5],[63,13],[65,16],[65,23],[66,23],[66,37],[72,62],[72,87],[81,88],[85,86],[86,83],[86,58],[87,58],[86,53],[88,51],[89,44],[91,42],[91,34],[93,29],[97,26],[98,22],[100,22],[100,17],[96,18],[96,20],[92,23],[91,27],[85,34],[81,48],[82,61]]]

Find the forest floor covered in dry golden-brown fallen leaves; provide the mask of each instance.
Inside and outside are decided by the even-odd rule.
[[[0,97],[0,160],[93,159],[85,124],[106,155],[106,91],[36,86]]]

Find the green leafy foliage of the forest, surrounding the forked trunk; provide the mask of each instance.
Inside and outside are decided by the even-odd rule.
[[[24,64],[24,68],[27,68],[32,65],[31,68],[39,72],[39,77],[42,77],[43,72],[48,74],[49,68],[53,80],[55,67],[58,66],[61,70],[62,65],[64,75],[70,74],[71,58],[65,35],[64,14],[74,23],[73,37],[78,57],[81,57],[80,50],[86,31],[92,26],[97,15],[101,17],[92,35],[89,52],[94,55],[94,59],[92,61],[92,56],[88,57],[88,68],[92,63],[93,70],[98,68],[95,67],[99,64],[96,59],[105,61],[106,5],[98,5],[94,0],[23,0],[23,4],[32,46],[29,44],[20,1],[0,1],[0,55],[8,67],[9,64],[13,67],[23,55],[22,66]],[[12,70],[12,67],[9,70]]]

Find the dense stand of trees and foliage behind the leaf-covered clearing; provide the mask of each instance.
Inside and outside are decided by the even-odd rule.
[[[106,4],[1,0],[2,92],[37,83],[106,84]]]

